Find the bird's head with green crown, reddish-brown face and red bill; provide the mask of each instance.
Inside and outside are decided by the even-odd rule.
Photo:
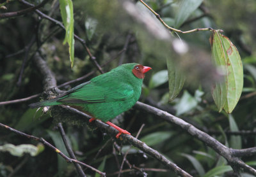
[[[145,73],[152,69],[151,67],[143,66],[138,63],[122,64],[121,67],[124,67],[125,69],[132,71],[134,76],[140,79],[143,79],[145,77]]]

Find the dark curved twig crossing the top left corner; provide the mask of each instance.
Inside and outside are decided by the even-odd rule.
[[[31,8],[27,8],[27,9],[24,9],[24,10],[0,13],[0,18],[3,19],[3,18],[18,17],[20,15],[24,15],[25,13],[29,13],[30,11],[41,8],[42,6],[44,6],[44,4],[47,3],[47,1],[49,1],[49,0],[44,0],[42,3],[38,4],[37,6],[33,6]]]

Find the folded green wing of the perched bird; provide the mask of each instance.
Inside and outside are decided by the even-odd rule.
[[[61,103],[104,103],[124,101],[134,94],[129,83],[122,81],[89,82],[69,90],[67,94],[58,99]]]

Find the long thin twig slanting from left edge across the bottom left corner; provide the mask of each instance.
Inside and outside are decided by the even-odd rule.
[[[83,162],[80,162],[80,161],[78,161],[76,159],[70,159],[64,153],[62,153],[60,150],[58,150],[58,148],[55,148],[50,143],[45,141],[44,138],[38,138],[36,136],[29,135],[29,134],[26,134],[24,132],[17,131],[16,129],[13,129],[13,128],[11,128],[11,127],[9,127],[7,125],[1,124],[1,123],[0,123],[0,127],[8,129],[9,131],[15,132],[16,134],[19,134],[20,136],[25,136],[26,138],[33,139],[35,141],[39,141],[40,143],[43,143],[45,146],[48,146],[49,148],[54,150],[56,153],[60,154],[61,157],[63,157],[65,160],[67,160],[67,162],[74,162],[74,163],[77,163],[77,164],[81,164],[82,166],[88,167],[88,168],[92,169],[93,171],[95,171],[96,173],[99,173],[102,176],[106,176],[106,173],[103,173],[103,172],[99,171],[98,169],[95,169],[95,168],[93,168],[91,166],[88,166],[87,164],[84,164]]]

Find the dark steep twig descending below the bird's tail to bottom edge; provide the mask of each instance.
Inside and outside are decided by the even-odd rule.
[[[62,127],[62,124],[59,123],[59,124],[58,124],[58,127],[59,127],[59,130],[60,130],[61,138],[63,139],[63,143],[64,143],[64,145],[65,145],[65,147],[66,147],[66,149],[67,149],[68,154],[70,155],[70,157],[71,157],[72,159],[77,160],[77,159],[76,159],[76,156],[75,156],[75,154],[74,154],[74,152],[73,152],[73,150],[72,150],[72,148],[70,147],[70,145],[69,145],[69,143],[68,143],[68,141],[67,141],[67,136],[66,136],[65,131],[64,131],[63,127]],[[79,176],[86,177],[86,175],[84,174],[84,171],[83,171],[82,167],[81,167],[79,164],[74,163],[74,166],[76,167],[76,171],[77,171],[77,173],[79,174]]]

